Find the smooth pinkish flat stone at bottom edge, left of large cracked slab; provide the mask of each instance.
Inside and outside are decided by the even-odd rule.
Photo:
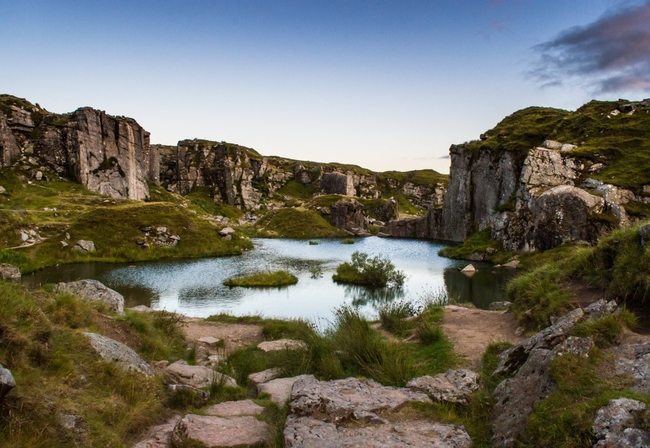
[[[174,428],[172,446],[201,443],[200,446],[208,448],[257,447],[264,446],[269,437],[269,425],[252,416],[224,418],[188,414]]]

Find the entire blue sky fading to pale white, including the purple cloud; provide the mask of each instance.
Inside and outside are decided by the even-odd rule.
[[[528,106],[650,97],[648,0],[0,0],[0,93],[375,171]]]

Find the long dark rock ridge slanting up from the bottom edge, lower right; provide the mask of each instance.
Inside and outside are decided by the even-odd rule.
[[[514,446],[535,405],[555,389],[549,377],[553,359],[566,353],[587,356],[592,345],[591,338],[571,336],[553,349],[534,348],[517,374],[499,383],[492,421],[495,447]]]

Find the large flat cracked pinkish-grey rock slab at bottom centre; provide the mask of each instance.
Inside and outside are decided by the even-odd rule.
[[[469,447],[462,426],[433,421],[386,419],[411,402],[429,403],[423,393],[382,386],[372,380],[347,378],[318,381],[305,377],[291,392],[284,428],[285,447]]]

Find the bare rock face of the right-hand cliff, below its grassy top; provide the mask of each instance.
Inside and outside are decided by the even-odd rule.
[[[567,149],[552,149],[557,144],[546,141],[519,159],[512,152],[499,155],[452,146],[442,209],[430,209],[426,218],[415,223],[392,222],[390,226],[426,226],[423,237],[451,241],[463,241],[491,227],[492,238],[504,249],[533,251],[565,242],[593,243],[605,231],[627,224],[629,218],[621,205],[646,198],[585,178],[592,165]],[[568,151],[574,148],[560,144],[567,146]]]

